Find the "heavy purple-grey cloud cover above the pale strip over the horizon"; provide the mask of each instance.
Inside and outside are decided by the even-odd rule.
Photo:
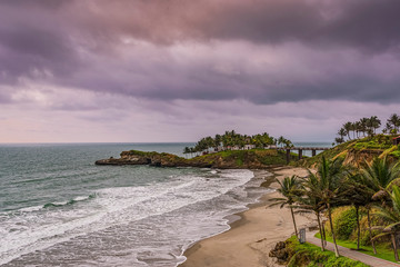
[[[178,121],[180,101],[396,105],[399,12],[398,0],[2,0],[0,107],[98,121],[134,103]]]

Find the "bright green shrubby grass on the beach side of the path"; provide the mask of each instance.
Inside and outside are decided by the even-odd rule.
[[[337,258],[331,251],[321,251],[321,248],[311,244],[300,244],[293,236],[287,240],[293,256],[288,267],[368,267],[363,263],[346,257]]]

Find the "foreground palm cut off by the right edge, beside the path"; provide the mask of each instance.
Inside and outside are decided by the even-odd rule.
[[[377,206],[376,215],[383,220],[388,221],[390,225],[382,226],[382,233],[377,235],[374,238],[379,238],[382,236],[390,235],[392,245],[393,245],[393,253],[394,258],[399,261],[398,255],[398,245],[397,245],[397,235],[400,233],[400,189],[397,186],[392,187],[392,192],[389,195],[392,201],[393,207],[388,206]]]

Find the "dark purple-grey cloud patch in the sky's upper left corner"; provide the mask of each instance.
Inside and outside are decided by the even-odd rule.
[[[14,4],[23,6],[21,2]],[[48,10],[30,9],[31,4],[0,9],[1,83],[14,83],[21,77],[31,76],[32,71],[68,76],[79,68],[77,48],[58,16]]]

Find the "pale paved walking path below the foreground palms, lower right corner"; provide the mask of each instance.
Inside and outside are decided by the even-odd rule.
[[[316,233],[308,233],[307,241],[321,247],[321,239],[316,238],[313,236],[313,234],[316,234]],[[334,250],[332,243],[327,243],[326,248],[331,251]],[[400,264],[394,264],[394,263],[386,260],[386,259],[377,258],[377,257],[373,257],[373,256],[370,256],[367,254],[351,250],[350,248],[346,248],[342,246],[338,246],[338,248],[339,248],[339,253],[341,256],[344,256],[344,257],[351,258],[351,259],[356,259],[356,260],[360,260],[372,267],[399,267],[400,266]]]

